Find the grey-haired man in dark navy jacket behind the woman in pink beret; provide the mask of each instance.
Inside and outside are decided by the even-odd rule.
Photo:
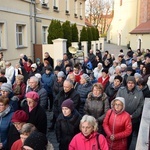
[[[39,82],[39,79],[35,76],[32,76],[29,79],[29,87],[27,89],[27,92],[30,91],[35,91],[39,94],[40,106],[44,109],[47,109],[47,105],[48,105],[47,91],[42,87],[42,85]]]

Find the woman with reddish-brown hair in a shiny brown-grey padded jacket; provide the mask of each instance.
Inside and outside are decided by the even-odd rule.
[[[105,113],[109,109],[107,95],[103,91],[103,86],[100,83],[95,83],[92,87],[92,92],[88,97],[84,106],[84,113],[95,117],[98,121],[99,131],[102,132],[102,123]]]

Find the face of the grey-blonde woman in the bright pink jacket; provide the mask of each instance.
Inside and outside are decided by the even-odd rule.
[[[90,125],[88,122],[83,122],[81,124],[81,132],[82,134],[87,137],[94,131],[94,127]]]

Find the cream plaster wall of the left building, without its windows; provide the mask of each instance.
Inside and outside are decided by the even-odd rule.
[[[52,19],[66,20],[76,23],[79,30],[85,26],[85,0],[77,0],[77,18],[74,17],[74,0],[69,0],[69,14],[66,15],[65,0],[58,0],[58,12],[53,10],[53,1],[49,0],[48,8],[43,8],[40,0],[0,0],[0,24],[5,26],[5,48],[2,48],[4,59],[14,65],[18,62],[20,54],[26,54],[33,59],[33,44],[42,44],[42,26],[49,26]],[[80,4],[82,3],[82,19],[80,18]],[[36,10],[36,12],[34,11]],[[35,23],[36,13],[36,23]],[[25,46],[16,47],[16,24],[25,24]],[[35,30],[36,25],[36,30]],[[79,32],[80,33],[80,32]],[[3,42],[3,41],[2,41]]]

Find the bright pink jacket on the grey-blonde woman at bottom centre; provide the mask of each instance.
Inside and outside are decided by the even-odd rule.
[[[86,138],[81,132],[75,135],[69,144],[69,150],[98,150],[97,132],[93,132],[89,138]],[[108,150],[108,144],[105,137],[99,135],[99,145],[101,150]]]

